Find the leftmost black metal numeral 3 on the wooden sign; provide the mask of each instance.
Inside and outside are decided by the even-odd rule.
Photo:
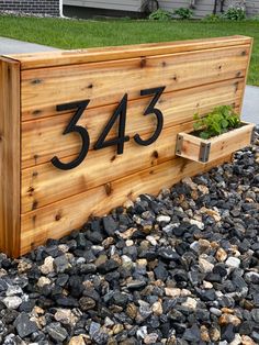
[[[82,115],[83,111],[87,109],[90,100],[86,101],[80,101],[80,102],[72,102],[72,103],[66,103],[66,104],[60,104],[57,105],[57,111],[64,111],[64,110],[72,110],[77,108],[77,111],[72,119],[70,120],[69,124],[67,125],[66,130],[63,132],[63,134],[68,134],[76,132],[81,136],[82,140],[82,146],[81,151],[76,159],[69,163],[63,163],[59,160],[57,156],[52,158],[52,164],[61,170],[70,170],[79,166],[79,164],[82,163],[82,160],[86,158],[88,151],[89,151],[89,144],[90,144],[90,138],[87,129],[77,125],[78,120]]]

